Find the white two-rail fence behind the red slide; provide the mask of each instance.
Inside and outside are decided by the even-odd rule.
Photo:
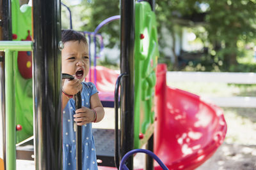
[[[213,72],[184,72],[168,71],[166,80],[172,82],[218,82],[234,84],[256,84],[256,73],[213,73]],[[217,106],[235,108],[256,108],[256,97],[202,97],[212,101]]]

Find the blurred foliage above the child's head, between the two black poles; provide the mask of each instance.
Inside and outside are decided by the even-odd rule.
[[[120,15],[119,3],[113,0],[82,0],[81,4],[72,5],[70,0],[63,0],[63,3],[72,11],[73,28],[76,31],[90,31],[93,32],[97,25],[100,24],[106,18],[112,17],[114,15]],[[65,8],[61,8],[62,11],[62,25],[63,28],[69,28],[69,15]],[[68,24],[65,24],[68,23]],[[102,33],[104,39],[104,45],[106,47],[112,48],[114,45],[119,45],[120,43],[120,28],[119,21],[111,22],[102,29],[99,33]],[[79,25],[77,25],[79,24]],[[105,41],[108,39],[107,41]]]

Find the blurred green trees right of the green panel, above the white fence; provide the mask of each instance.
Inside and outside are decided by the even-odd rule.
[[[177,18],[184,19],[186,27],[193,27],[196,37],[202,40],[208,48],[208,53],[202,55],[200,64],[189,64],[186,70],[196,71],[255,71],[255,64],[237,67],[237,58],[244,57],[246,43],[254,42],[256,38],[256,1],[249,0],[161,0],[157,2],[157,18],[159,25],[173,30]],[[193,16],[204,16],[204,21],[197,27]],[[188,17],[189,16],[189,17]],[[168,21],[168,22],[166,22]],[[164,35],[160,35],[164,36]],[[160,42],[159,44],[163,45]],[[242,44],[242,46],[239,46]],[[246,55],[245,55],[246,56]],[[207,62],[207,63],[204,63]],[[211,66],[209,66],[211,64]],[[204,66],[205,65],[205,66]]]

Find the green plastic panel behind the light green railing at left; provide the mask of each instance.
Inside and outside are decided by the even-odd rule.
[[[17,35],[13,41],[27,39],[31,32],[31,6],[19,6],[19,0],[12,0],[12,33]],[[15,37],[15,36],[14,36]],[[24,79],[18,68],[17,53],[15,52],[15,113],[16,124],[22,125],[17,131],[16,142],[33,136],[33,93],[32,78]]]

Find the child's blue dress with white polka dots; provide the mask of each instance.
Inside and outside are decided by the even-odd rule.
[[[82,106],[90,108],[90,97],[97,93],[91,82],[82,82]],[[76,170],[76,132],[74,131],[75,101],[70,99],[63,110],[63,170]],[[92,123],[82,127],[83,170],[95,170],[97,159],[92,136]]]

